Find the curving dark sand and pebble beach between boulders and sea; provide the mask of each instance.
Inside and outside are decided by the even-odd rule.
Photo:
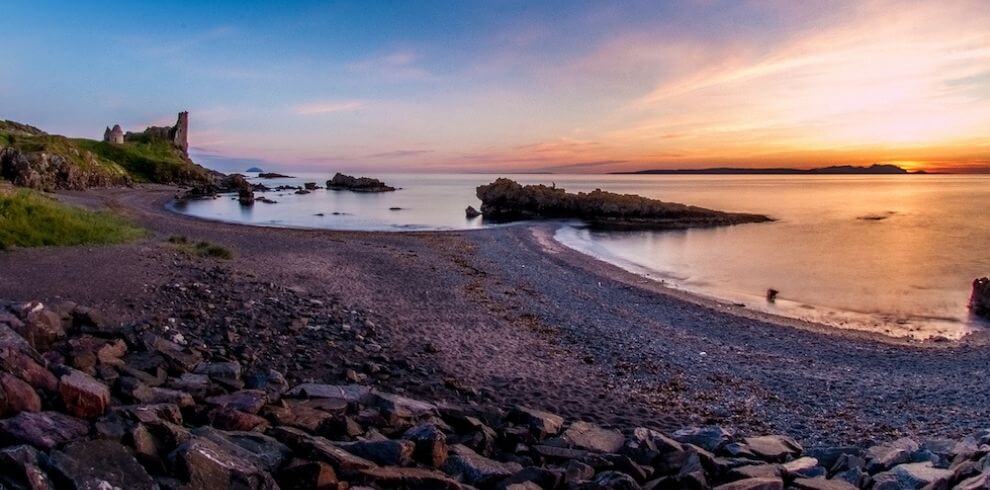
[[[176,319],[180,331],[183,315],[221,325],[237,313],[231,305],[274,299],[256,319],[271,341],[239,332],[231,345],[284,367],[292,381],[339,379],[341,366],[373,362],[385,368],[371,382],[395,391],[526,403],[607,425],[719,423],[805,444],[866,444],[959,436],[990,414],[990,348],[979,339],[910,343],[672,292],[560,246],[549,224],[261,228],[170,212],[176,192],[61,194],[118,210],[151,233],[127,245],[2,254],[0,297],[73,301],[128,322]],[[235,258],[185,257],[167,242],[176,235],[223,245]],[[199,289],[225,303],[194,305],[188,291]],[[374,339],[362,347],[282,335],[299,330],[294,320],[330,310],[370,321]]]

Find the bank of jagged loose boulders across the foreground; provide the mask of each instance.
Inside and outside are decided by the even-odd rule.
[[[4,488],[987,488],[990,430],[803,448],[718,426],[662,434],[363,384],[290,387],[175,328],[0,303]]]

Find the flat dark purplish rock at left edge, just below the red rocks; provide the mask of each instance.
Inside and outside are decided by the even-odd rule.
[[[29,444],[49,450],[85,436],[89,424],[58,412],[21,412],[0,420],[0,443]]]

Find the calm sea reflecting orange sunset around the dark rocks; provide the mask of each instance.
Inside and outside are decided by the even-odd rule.
[[[829,325],[895,336],[958,338],[987,325],[966,308],[990,274],[990,176],[505,175],[569,191],[601,188],[727,211],[766,224],[671,232],[598,232],[562,225],[563,244],[691,292]],[[270,187],[329,176],[266,180]],[[263,226],[348,230],[479,228],[464,208],[495,175],[379,175],[402,190],[268,192],[179,211]],[[397,208],[397,209],[396,209]],[[766,290],[780,291],[768,304]]]

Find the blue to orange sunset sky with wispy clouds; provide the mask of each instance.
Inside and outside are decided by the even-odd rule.
[[[0,0],[0,119],[220,170],[990,171],[986,0]]]

